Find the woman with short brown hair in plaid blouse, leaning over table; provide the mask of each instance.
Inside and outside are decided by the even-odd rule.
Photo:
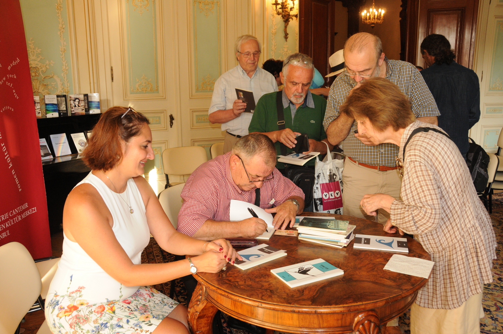
[[[435,262],[411,306],[411,333],[479,333],[482,285],[492,282],[496,240],[459,149],[430,130],[413,135],[404,154],[414,129],[442,129],[416,121],[407,98],[384,78],[355,89],[341,111],[356,119],[360,136],[400,147],[401,199],[369,194],[361,206],[369,215],[388,211],[384,230],[413,234]]]

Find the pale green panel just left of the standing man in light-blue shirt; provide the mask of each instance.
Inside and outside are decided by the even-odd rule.
[[[195,0],[193,21],[195,92],[213,92],[221,74],[220,2]]]

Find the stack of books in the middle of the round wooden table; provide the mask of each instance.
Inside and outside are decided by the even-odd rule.
[[[297,226],[297,231],[299,240],[342,248],[355,238],[355,227],[348,220],[304,217]]]

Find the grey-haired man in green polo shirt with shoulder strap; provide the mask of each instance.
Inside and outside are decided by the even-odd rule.
[[[303,133],[307,133],[309,137],[309,151],[303,152],[305,154],[311,151],[325,154],[324,142],[328,144],[330,150],[333,147],[326,139],[323,129],[326,101],[309,92],[313,75],[312,59],[302,53],[293,53],[283,62],[283,70],[280,73],[281,82],[285,85],[284,90],[265,94],[257,103],[248,132],[260,132],[271,138],[278,155],[281,154],[280,143],[283,143],[287,153],[290,153],[297,143],[295,136]],[[283,104],[285,118],[283,130],[278,127],[277,94],[281,94]],[[314,159],[305,165],[314,166]],[[284,172],[286,164],[278,162],[276,168]]]

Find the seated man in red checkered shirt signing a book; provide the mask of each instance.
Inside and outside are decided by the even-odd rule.
[[[246,135],[231,152],[199,166],[182,191],[178,230],[198,239],[256,237],[267,228],[260,218],[229,221],[230,200],[259,204],[276,212],[276,229],[290,224],[304,209],[304,193],[276,168],[276,147],[260,133]],[[259,188],[259,190],[257,190]]]

